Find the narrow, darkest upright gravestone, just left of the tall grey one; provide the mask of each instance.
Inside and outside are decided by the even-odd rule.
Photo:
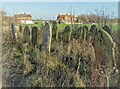
[[[37,45],[37,34],[38,33],[38,28],[34,26],[32,28],[32,45],[35,47]]]

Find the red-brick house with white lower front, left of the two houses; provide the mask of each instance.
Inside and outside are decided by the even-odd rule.
[[[26,14],[26,13],[15,15],[15,21],[17,23],[33,24],[32,15],[31,14]]]

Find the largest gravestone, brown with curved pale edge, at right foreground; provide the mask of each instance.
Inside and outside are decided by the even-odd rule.
[[[115,59],[115,42],[112,37],[104,30],[98,30],[95,34],[93,47],[95,50],[96,60],[98,64],[107,67],[116,66]]]

